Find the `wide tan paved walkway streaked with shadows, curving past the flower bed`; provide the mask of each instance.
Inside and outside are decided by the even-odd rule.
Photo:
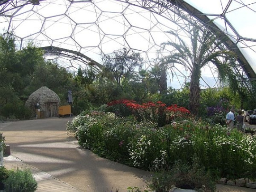
[[[127,192],[146,188],[150,173],[98,157],[81,149],[65,130],[71,118],[48,118],[0,123],[10,145],[4,158],[8,169],[29,167],[38,181],[37,192]],[[256,192],[256,189],[217,185],[219,192]]]

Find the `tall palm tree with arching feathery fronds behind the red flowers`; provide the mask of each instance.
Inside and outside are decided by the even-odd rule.
[[[173,31],[167,33],[173,35],[178,43],[168,41],[161,44],[163,49],[165,49],[165,46],[172,46],[176,49],[173,54],[166,56],[164,61],[173,66],[174,64],[181,64],[190,72],[189,109],[192,114],[198,115],[201,69],[209,62],[215,65],[220,64],[221,58],[230,59],[234,54],[229,50],[220,49],[221,41],[206,27],[200,28],[194,25],[190,35],[190,46]],[[217,66],[217,69],[221,68]],[[221,75],[223,73],[219,73],[220,78]]]

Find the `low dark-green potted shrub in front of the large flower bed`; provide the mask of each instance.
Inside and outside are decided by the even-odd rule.
[[[215,192],[216,189],[210,173],[195,157],[192,165],[178,160],[171,170],[154,174],[149,187],[155,192]]]

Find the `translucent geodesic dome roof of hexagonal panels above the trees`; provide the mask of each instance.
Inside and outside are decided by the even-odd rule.
[[[192,22],[226,38],[223,47],[238,56],[234,70],[246,82],[256,78],[255,0],[0,0],[0,29],[13,32],[20,49],[33,40],[45,58],[76,70],[122,47],[139,52],[145,69],[172,50],[160,44],[175,31],[187,38]],[[214,66],[202,69],[201,88],[218,87]],[[169,85],[180,88],[190,74],[172,69]]]

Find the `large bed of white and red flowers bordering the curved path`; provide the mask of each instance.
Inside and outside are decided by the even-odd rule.
[[[123,103],[120,106],[129,115],[123,117],[120,110],[115,111],[118,116],[112,112],[83,112],[67,124],[67,130],[75,132],[81,146],[129,166],[169,170],[177,160],[191,165],[196,156],[216,179],[256,178],[255,136],[246,137],[236,129],[227,134],[227,128],[210,126],[189,117],[189,113],[177,115],[178,106],[173,108],[177,111],[166,110],[163,103],[135,110],[125,108]],[[158,126],[159,113],[166,115],[162,127]]]

